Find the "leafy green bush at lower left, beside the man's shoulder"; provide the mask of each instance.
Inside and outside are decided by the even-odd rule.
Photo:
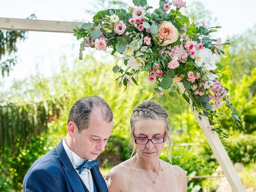
[[[0,158],[0,191],[21,191],[23,178],[32,165],[40,156],[51,148],[47,146],[47,136],[34,136],[26,147],[16,144],[18,154],[12,156],[11,150],[1,154]]]

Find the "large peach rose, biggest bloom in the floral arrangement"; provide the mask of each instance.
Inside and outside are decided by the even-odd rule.
[[[164,21],[158,25],[157,36],[159,37],[158,44],[160,45],[160,42],[162,42],[162,40],[164,39],[164,43],[160,46],[166,46],[168,44],[176,42],[179,36],[179,32],[172,24],[172,22]]]

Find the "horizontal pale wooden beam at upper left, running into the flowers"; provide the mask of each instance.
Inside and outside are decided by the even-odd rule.
[[[47,21],[34,19],[15,19],[0,17],[0,29],[20,31],[42,31],[58,33],[74,33],[76,26],[81,22]]]

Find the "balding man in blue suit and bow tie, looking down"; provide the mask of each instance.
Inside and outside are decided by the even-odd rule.
[[[113,114],[102,98],[80,98],[70,110],[67,136],[30,167],[24,192],[107,192],[96,158],[112,128]]]

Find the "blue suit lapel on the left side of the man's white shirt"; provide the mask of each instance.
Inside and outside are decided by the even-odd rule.
[[[70,162],[68,155],[66,154],[66,151],[64,150],[64,147],[62,145],[62,141],[56,147],[56,151],[63,164],[62,169],[65,172],[66,177],[68,178],[68,181],[70,183],[70,186],[72,187],[72,190],[75,192],[83,191],[84,188],[80,181],[79,175],[74,169],[72,163]],[[89,192],[87,188],[86,188],[86,192]]]

